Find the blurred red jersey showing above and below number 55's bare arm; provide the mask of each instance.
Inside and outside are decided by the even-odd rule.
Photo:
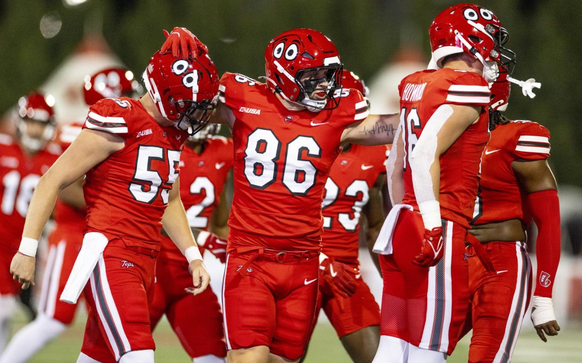
[[[70,144],[73,143],[74,139],[77,138],[81,132],[82,127],[83,123],[79,122],[63,125],[61,127],[57,140],[63,151],[65,151],[70,146]],[[81,231],[85,227],[86,216],[86,211],[73,208],[65,202],[62,202],[60,199],[56,200],[53,218],[59,227],[66,227],[68,229],[70,228],[72,230]],[[81,244],[81,242],[82,241],[79,241],[79,244]]]

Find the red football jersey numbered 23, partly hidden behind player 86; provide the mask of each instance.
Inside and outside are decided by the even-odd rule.
[[[370,189],[386,173],[386,147],[352,145],[335,159],[325,183],[322,252],[346,263],[357,261],[361,210]]]

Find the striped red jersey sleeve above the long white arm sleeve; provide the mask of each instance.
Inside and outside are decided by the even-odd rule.
[[[445,104],[488,107],[491,101],[487,81],[474,72],[454,71],[443,88],[446,88],[443,90],[446,92]]]

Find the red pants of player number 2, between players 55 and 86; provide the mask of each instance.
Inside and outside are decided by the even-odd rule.
[[[210,286],[200,295],[186,293],[192,287],[188,263],[158,258],[154,301],[150,305],[151,329],[166,314],[172,329],[191,358],[226,357],[222,311]]]

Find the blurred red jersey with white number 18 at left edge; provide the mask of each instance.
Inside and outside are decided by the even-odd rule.
[[[61,147],[48,144],[33,156],[24,153],[12,137],[0,134],[0,234],[3,246],[18,248],[24,219],[40,177],[61,155]],[[8,268],[8,266],[5,266]]]

